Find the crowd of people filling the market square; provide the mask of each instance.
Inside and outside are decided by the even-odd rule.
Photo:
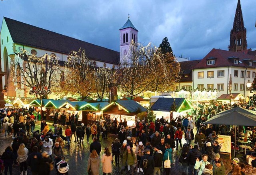
[[[127,170],[128,174],[143,172],[144,175],[160,175],[164,171],[169,175],[174,166],[172,158],[175,149],[180,149],[181,152],[178,161],[182,163],[183,175],[225,175],[218,134],[230,135],[232,141],[238,139],[241,134],[248,134],[248,139],[253,144],[252,149],[246,153],[250,155],[256,149],[256,127],[233,128],[225,125],[206,125],[204,122],[214,114],[236,106],[254,110],[254,107],[246,104],[202,103],[198,104],[190,115],[178,116],[170,122],[164,117],[157,118],[156,121],[144,118],[137,120],[134,128],[127,126],[126,120],[118,122],[116,118],[110,119],[110,116],[105,116],[104,120],[92,126],[85,126],[83,123],[78,124],[75,115],[70,117],[68,113],[56,112],[54,129],[50,129],[46,121],[42,120],[40,130],[36,131],[35,120],[39,120],[40,115],[36,109],[6,108],[0,116],[2,132],[5,137],[13,137],[13,142],[1,156],[4,173],[7,175],[9,170],[12,174],[14,164],[20,166],[22,175],[27,175],[28,166],[33,175],[49,174],[52,163],[58,172],[57,163],[64,157],[65,144],[69,147],[74,136],[74,142],[81,146],[86,135],[87,144],[90,144],[90,137],[92,139],[87,170],[93,175],[99,174],[101,163],[104,174],[111,174],[112,165],[116,165],[120,167],[121,174]],[[69,120],[66,120],[67,116]],[[66,126],[65,134],[62,126]],[[235,135],[234,130],[238,129],[240,132]],[[102,146],[99,140],[107,139],[110,132],[117,138],[113,140],[111,147],[104,148],[104,154],[100,157]],[[183,138],[186,143],[182,145]],[[233,159],[229,175],[246,174],[245,165],[239,160],[244,158],[246,156]]]

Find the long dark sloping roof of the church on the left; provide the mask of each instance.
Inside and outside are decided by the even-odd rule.
[[[120,54],[92,43],[81,41],[53,31],[4,17],[14,43],[69,54],[70,51],[85,49],[86,56],[95,61],[118,64]]]

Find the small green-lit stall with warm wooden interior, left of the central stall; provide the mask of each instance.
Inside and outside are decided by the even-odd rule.
[[[103,118],[102,108],[108,106],[109,102],[87,103],[80,107],[82,110],[83,122],[92,125]]]

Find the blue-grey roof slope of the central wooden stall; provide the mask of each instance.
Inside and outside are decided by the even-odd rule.
[[[120,106],[132,113],[136,112],[138,108],[140,108],[141,112],[147,111],[146,108],[144,108],[134,100],[117,100],[116,104],[119,104]]]

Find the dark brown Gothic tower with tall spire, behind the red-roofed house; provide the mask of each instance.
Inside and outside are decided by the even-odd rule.
[[[229,51],[237,52],[247,49],[246,28],[244,28],[244,19],[240,0],[237,2],[236,14],[233,28],[230,31]]]

